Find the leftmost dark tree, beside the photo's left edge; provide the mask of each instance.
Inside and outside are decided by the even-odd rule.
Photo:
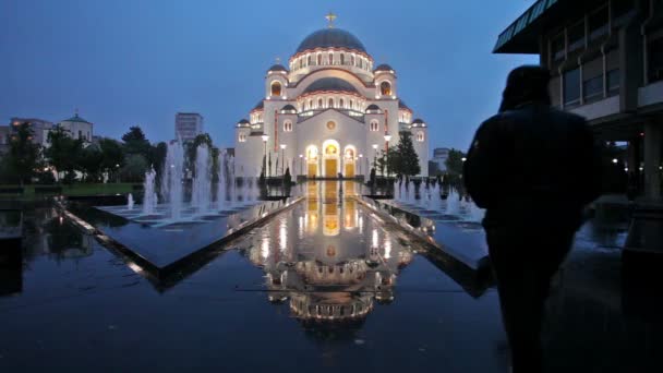
[[[33,143],[33,130],[28,123],[22,123],[10,142],[7,170],[21,185],[29,183],[36,168],[40,166],[40,146]]]

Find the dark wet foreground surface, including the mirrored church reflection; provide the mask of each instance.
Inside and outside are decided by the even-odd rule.
[[[13,289],[0,291],[0,372],[508,372],[495,290],[468,293],[354,193],[311,183],[306,201],[167,286],[53,209],[27,213],[20,279],[0,284]],[[625,292],[624,239],[624,226],[579,232],[544,325],[552,371],[655,361],[661,322],[640,312],[647,294],[642,306]]]

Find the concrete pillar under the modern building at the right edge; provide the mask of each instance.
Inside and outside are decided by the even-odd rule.
[[[661,198],[661,144],[663,129],[661,121],[644,123],[644,196]]]

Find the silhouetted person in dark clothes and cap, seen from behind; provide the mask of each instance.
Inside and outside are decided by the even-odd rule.
[[[584,119],[551,108],[550,72],[509,73],[499,113],[481,124],[465,163],[483,226],[514,372],[541,371],[550,282],[600,193],[600,157]]]

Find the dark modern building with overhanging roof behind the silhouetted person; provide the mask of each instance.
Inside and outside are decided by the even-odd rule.
[[[642,180],[641,194],[661,196],[663,1],[539,0],[494,52],[539,55],[553,105],[586,117],[604,141],[628,142],[618,167]]]

